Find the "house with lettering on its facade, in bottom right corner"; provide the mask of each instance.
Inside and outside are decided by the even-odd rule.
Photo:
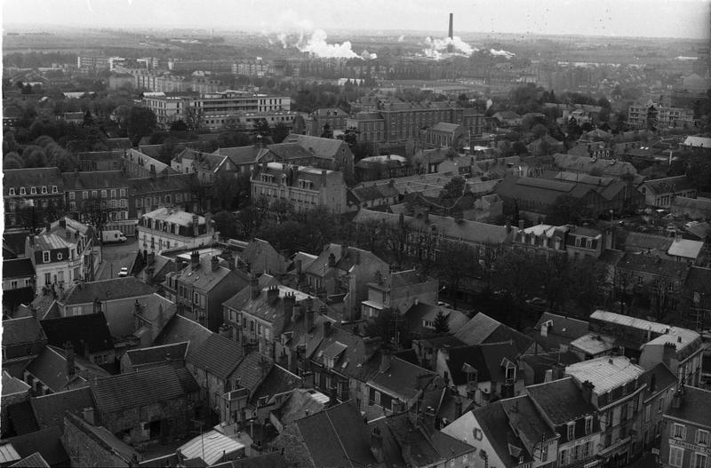
[[[678,388],[661,424],[660,465],[707,466],[709,421],[711,392],[694,386]]]

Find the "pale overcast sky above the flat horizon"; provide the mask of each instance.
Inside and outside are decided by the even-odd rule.
[[[0,0],[3,24],[708,38],[711,0]]]

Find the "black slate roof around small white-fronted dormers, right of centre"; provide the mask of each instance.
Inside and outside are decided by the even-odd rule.
[[[518,354],[515,345],[510,343],[450,348],[447,366],[454,385],[467,383],[467,375],[462,371],[465,364],[476,369],[479,382],[504,382],[506,374],[501,361],[506,358],[515,364]],[[520,379],[523,374],[517,373],[517,377]]]

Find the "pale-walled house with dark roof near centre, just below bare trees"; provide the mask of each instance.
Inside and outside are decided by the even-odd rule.
[[[408,315],[413,308],[417,308],[418,304],[422,305],[419,308],[422,309],[421,312],[419,309],[412,311],[413,314],[410,316],[424,315],[429,312],[425,310],[428,304],[436,303],[438,291],[439,282],[414,269],[384,273],[378,270],[374,281],[368,283],[368,300],[362,303],[361,316],[374,318],[388,309]],[[415,326],[416,322],[417,320]],[[434,329],[433,326],[429,328]]]

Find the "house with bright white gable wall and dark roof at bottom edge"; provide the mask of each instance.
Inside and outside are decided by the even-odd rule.
[[[559,436],[527,396],[467,411],[442,432],[476,449],[475,466],[555,464]]]

